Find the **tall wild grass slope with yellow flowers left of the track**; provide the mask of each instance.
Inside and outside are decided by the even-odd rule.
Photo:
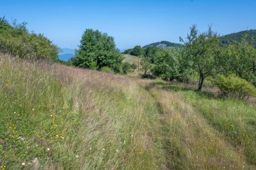
[[[162,169],[157,116],[127,77],[0,57],[2,169]]]

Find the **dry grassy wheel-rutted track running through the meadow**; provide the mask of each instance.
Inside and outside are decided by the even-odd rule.
[[[251,165],[253,159],[248,159],[241,147],[234,146],[225,132],[213,126],[197,103],[180,93],[180,85],[168,89],[171,85],[162,81],[147,83],[146,89],[160,106],[160,140],[168,169],[255,169]]]

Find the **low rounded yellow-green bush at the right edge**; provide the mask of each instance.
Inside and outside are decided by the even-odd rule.
[[[256,88],[245,79],[241,79],[235,75],[220,75],[213,80],[224,97],[234,97],[244,99],[245,97],[256,97]]]

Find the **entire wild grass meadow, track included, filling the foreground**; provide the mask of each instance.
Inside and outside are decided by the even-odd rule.
[[[1,169],[256,169],[255,103],[182,83],[1,55],[0,116]]]

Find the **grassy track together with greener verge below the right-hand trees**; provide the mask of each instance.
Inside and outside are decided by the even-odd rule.
[[[255,105],[187,85],[154,82],[169,165],[174,169],[255,169]],[[175,136],[173,138],[173,136]],[[170,149],[172,148],[172,149]]]

